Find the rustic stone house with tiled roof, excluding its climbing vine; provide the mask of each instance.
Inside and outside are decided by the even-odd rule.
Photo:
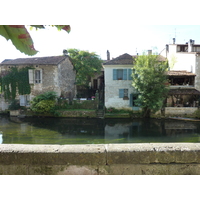
[[[28,106],[29,101],[36,95],[55,91],[58,96],[73,99],[76,95],[74,66],[69,56],[51,56],[51,57],[31,57],[18,58],[14,60],[4,60],[0,63],[0,74],[5,73],[12,67],[29,69],[29,84],[31,84],[30,95],[18,95],[21,106]],[[1,94],[0,109],[5,110],[8,103],[4,101],[4,95]]]

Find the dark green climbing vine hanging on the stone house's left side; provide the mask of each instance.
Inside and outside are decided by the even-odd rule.
[[[1,74],[1,92],[4,93],[5,99],[14,100],[17,93],[25,95],[31,93],[31,86],[29,84],[28,70],[32,67],[25,67],[18,69],[12,67],[9,71]]]

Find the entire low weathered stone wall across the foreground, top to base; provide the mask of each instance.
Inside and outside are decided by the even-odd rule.
[[[200,144],[2,144],[0,174],[199,175]]]

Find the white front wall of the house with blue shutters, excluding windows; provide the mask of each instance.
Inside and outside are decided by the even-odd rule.
[[[131,80],[113,80],[113,69],[132,69],[133,65],[105,65],[105,106],[117,109],[130,109],[130,94],[135,92]],[[128,89],[129,100],[119,98],[119,89]]]

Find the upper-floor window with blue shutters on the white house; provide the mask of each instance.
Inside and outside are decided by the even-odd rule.
[[[113,80],[132,80],[132,69],[113,69]]]

